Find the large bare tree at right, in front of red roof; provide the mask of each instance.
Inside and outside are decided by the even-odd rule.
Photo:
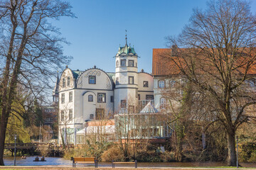
[[[206,11],[193,11],[177,38],[168,38],[174,46],[165,55],[175,74],[186,77],[210,101],[206,114],[214,115],[211,123],[225,127],[230,166],[236,164],[235,131],[255,118],[246,111],[256,103],[246,84],[255,81],[255,21],[247,1],[209,1]]]

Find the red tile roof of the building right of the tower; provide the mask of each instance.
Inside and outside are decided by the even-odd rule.
[[[187,52],[186,55],[190,55],[189,49],[178,49],[183,52]],[[250,54],[247,55],[247,57],[240,57],[239,60],[236,60],[237,64],[234,64],[239,69],[236,69],[238,74],[245,74],[245,68],[247,66],[247,60],[251,60],[251,57],[255,58],[255,52],[256,49],[252,52],[250,48],[242,49],[244,52]],[[249,51],[250,50],[250,51]],[[172,49],[171,48],[155,48],[153,49],[153,61],[152,61],[152,74],[154,76],[166,76],[166,75],[174,75],[174,74],[181,74],[181,68],[186,69],[186,67],[189,65],[189,63],[186,63],[185,60],[182,58],[178,58],[177,56],[172,55]],[[215,51],[215,50],[214,50]],[[201,55],[201,50],[193,50],[193,52],[198,53],[195,59],[198,60],[198,67],[196,69],[196,72],[201,74],[202,72],[218,72],[216,67],[213,65],[213,62],[210,61],[207,57],[204,55]],[[172,60],[169,59],[169,57],[174,57]],[[176,63],[174,62],[176,61]],[[256,60],[255,63],[252,63],[250,65],[250,68],[247,71],[247,74],[256,74]],[[207,69],[207,70],[206,70]]]

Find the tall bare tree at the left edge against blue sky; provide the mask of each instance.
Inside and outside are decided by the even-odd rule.
[[[1,126],[0,165],[4,165],[6,125],[17,84],[42,87],[41,75],[67,63],[58,29],[48,19],[74,16],[71,6],[60,0],[4,0],[0,2]],[[4,64],[5,63],[5,64]],[[32,76],[33,75],[33,76]],[[35,80],[36,79],[36,80]]]

